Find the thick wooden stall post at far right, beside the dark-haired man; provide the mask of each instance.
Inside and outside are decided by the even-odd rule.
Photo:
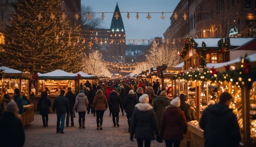
[[[250,135],[250,97],[248,85],[241,86],[242,117],[243,117],[243,143],[244,146],[251,146]]]

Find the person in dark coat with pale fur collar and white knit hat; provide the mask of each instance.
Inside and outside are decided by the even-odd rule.
[[[133,141],[133,136],[137,139],[138,147],[149,147],[151,140],[163,142],[159,135],[159,129],[156,121],[156,115],[153,107],[148,103],[148,95],[143,94],[139,98],[140,103],[135,105],[132,120],[130,125],[130,139]]]

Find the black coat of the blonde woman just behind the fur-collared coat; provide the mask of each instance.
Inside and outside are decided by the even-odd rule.
[[[132,113],[135,105],[138,103],[138,99],[135,97],[134,94],[128,94],[125,98],[124,98],[124,109],[125,112],[128,113]]]

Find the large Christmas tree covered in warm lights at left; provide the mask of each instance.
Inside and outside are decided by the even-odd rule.
[[[17,0],[5,28],[2,65],[30,73],[81,70],[80,26],[69,26],[62,1]]]

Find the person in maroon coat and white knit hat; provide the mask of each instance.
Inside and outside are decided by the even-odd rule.
[[[179,109],[180,98],[176,97],[170,102],[170,106],[162,117],[161,137],[165,140],[166,147],[179,147],[180,141],[183,140],[183,134],[187,133],[187,119],[185,113]]]

